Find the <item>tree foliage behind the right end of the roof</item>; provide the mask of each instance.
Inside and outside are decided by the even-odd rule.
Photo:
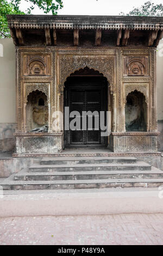
[[[120,15],[124,16],[163,16],[163,5],[162,4],[154,4],[151,1],[146,2],[141,5],[141,7],[133,7],[128,14],[120,13]]]

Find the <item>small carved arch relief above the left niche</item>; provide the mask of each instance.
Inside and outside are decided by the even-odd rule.
[[[29,75],[45,75],[45,64],[41,60],[32,60],[29,65]]]

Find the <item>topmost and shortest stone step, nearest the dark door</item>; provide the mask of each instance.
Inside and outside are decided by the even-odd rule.
[[[85,164],[85,163],[135,163],[136,157],[43,157],[41,165],[49,164]]]

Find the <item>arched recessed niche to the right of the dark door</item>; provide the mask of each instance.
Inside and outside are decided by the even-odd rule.
[[[126,131],[147,131],[147,103],[141,92],[134,90],[126,97]]]

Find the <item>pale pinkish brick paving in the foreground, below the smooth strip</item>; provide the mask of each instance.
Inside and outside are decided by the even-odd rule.
[[[163,214],[0,218],[0,245],[163,245]]]

